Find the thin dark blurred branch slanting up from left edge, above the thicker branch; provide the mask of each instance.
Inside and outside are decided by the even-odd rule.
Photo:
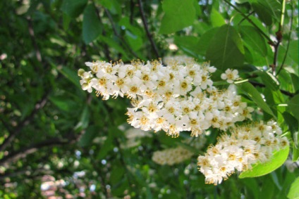
[[[23,127],[25,127],[26,125],[28,125],[32,120],[33,117],[35,117],[35,114],[37,113],[37,111],[41,108],[44,107],[44,105],[47,103],[47,97],[48,94],[44,94],[44,96],[42,97],[41,100],[39,100],[36,104],[35,104],[35,108],[32,110],[32,112],[30,113],[30,115],[28,115],[22,122],[20,122],[20,124],[18,124],[18,126],[16,127],[16,129],[14,129],[13,131],[10,132],[9,136],[4,140],[4,142],[1,144],[0,146],[0,151],[4,151],[6,149],[6,147],[11,143],[11,141],[13,141],[13,139],[20,134],[20,131],[23,129]],[[7,129],[9,131],[9,129]]]

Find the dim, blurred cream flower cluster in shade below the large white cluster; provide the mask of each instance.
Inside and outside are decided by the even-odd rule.
[[[174,165],[190,159],[194,154],[181,146],[158,150],[152,155],[152,160],[159,165]]]

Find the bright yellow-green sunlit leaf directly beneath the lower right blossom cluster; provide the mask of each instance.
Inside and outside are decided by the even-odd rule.
[[[288,158],[289,150],[290,146],[286,146],[286,148],[275,151],[269,162],[257,163],[253,165],[252,169],[240,173],[239,178],[252,178],[263,176],[265,174],[273,172],[275,169],[281,167],[281,165],[283,165],[283,162],[286,161],[286,159]]]

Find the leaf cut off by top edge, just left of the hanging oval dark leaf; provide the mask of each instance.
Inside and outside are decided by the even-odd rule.
[[[62,11],[72,18],[78,17],[83,12],[87,0],[63,0]]]

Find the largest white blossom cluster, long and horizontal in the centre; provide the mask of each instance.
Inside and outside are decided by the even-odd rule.
[[[251,119],[253,108],[240,101],[233,87],[219,90],[210,79],[216,68],[185,58],[131,64],[97,61],[80,69],[83,90],[93,89],[104,100],[110,96],[130,98],[128,123],[135,128],[164,130],[170,136],[191,131],[198,136],[209,127],[226,130],[235,122]]]

